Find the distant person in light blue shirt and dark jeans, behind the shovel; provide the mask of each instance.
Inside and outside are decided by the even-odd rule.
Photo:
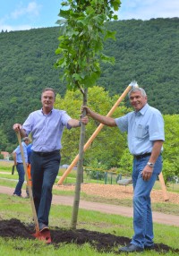
[[[27,146],[30,143],[30,139],[28,137],[25,137],[22,139],[21,146],[23,149],[23,155],[25,159],[25,163],[28,165],[28,154],[27,154]],[[23,160],[21,158],[21,149],[20,145],[13,150],[13,161],[14,166],[16,166],[18,175],[19,175],[19,181],[15,187],[15,191],[13,192],[13,196],[19,196],[21,197],[21,188],[24,183],[25,179],[25,170],[23,167]]]

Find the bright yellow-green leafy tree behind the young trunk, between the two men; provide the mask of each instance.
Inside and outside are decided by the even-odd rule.
[[[89,88],[88,106],[95,112],[107,115],[114,106],[118,95],[109,96],[109,92],[102,87],[94,86]],[[55,107],[65,109],[69,115],[79,118],[81,109],[81,92],[79,90],[67,90],[64,98],[56,96]],[[124,107],[124,103],[115,109],[114,117],[124,115],[130,109]],[[86,126],[85,142],[90,139],[91,134],[98,128],[98,122],[90,119]],[[70,164],[78,154],[79,147],[79,129],[70,131],[64,130],[63,149],[61,150],[62,164]],[[116,141],[117,138],[117,141]],[[104,126],[98,133],[96,139],[91,143],[90,149],[85,152],[84,166],[93,166],[93,160],[96,159],[101,165],[107,166],[107,169],[113,166],[119,166],[119,159],[122,158],[124,149],[127,147],[126,134],[119,129]],[[95,166],[94,166],[95,167]]]

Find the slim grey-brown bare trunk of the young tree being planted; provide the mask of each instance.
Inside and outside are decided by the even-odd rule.
[[[88,89],[84,90],[83,94],[83,105],[87,105],[87,94]],[[86,112],[82,113],[82,116],[85,116]],[[72,207],[72,220],[71,220],[71,228],[76,229],[80,197],[81,197],[81,183],[83,182],[83,155],[84,155],[84,142],[85,142],[85,125],[81,124],[81,138],[79,144],[79,161],[77,166],[77,176],[76,176],[76,185],[75,185],[75,193],[74,193],[74,201]]]

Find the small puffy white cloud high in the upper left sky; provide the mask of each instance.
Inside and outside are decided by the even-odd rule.
[[[38,16],[41,5],[36,2],[30,2],[27,7],[19,6],[12,14],[13,19],[18,19],[22,15]]]

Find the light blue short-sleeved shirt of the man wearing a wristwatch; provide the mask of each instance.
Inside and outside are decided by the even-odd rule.
[[[132,155],[149,153],[154,141],[165,141],[163,117],[149,104],[138,112],[115,118],[115,123],[121,132],[128,132],[128,147]]]

